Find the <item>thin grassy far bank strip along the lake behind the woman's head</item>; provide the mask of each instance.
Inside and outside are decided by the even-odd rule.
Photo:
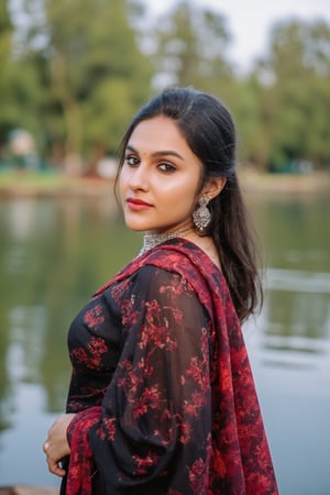
[[[265,174],[240,169],[245,194],[322,194],[330,191],[330,174]],[[113,197],[113,179],[11,173],[0,175],[0,199],[20,197]]]

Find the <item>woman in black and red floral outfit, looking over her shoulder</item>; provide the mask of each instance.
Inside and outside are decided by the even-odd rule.
[[[62,493],[277,494],[240,322],[261,286],[228,110],[193,89],[141,109],[117,179],[142,252],[72,323]]]

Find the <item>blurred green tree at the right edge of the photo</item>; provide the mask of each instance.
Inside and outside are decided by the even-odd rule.
[[[330,165],[330,26],[282,22],[262,62],[262,139],[272,167],[309,161]]]

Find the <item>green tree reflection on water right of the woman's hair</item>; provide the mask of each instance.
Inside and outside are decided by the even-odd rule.
[[[248,197],[267,266],[330,273],[330,198],[324,195]]]

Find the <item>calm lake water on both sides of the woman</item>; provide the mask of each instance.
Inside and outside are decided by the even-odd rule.
[[[248,197],[267,265],[244,333],[282,495],[330,494],[329,195]],[[57,486],[42,442],[65,407],[67,328],[134,256],[105,198],[0,202],[0,485]]]

